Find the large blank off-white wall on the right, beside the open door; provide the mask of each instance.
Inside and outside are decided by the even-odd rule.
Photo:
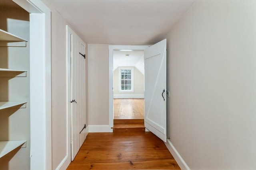
[[[196,1],[168,40],[168,135],[191,169],[256,169],[256,1]]]

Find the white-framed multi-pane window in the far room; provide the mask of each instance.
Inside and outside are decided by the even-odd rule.
[[[119,67],[119,92],[134,92],[133,67]]]

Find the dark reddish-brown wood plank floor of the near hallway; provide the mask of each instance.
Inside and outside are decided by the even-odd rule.
[[[179,170],[151,132],[89,133],[67,170]]]

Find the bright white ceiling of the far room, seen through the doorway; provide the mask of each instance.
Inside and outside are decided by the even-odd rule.
[[[129,57],[126,57],[129,55]],[[144,51],[114,51],[113,70],[118,67],[136,67],[144,74]]]

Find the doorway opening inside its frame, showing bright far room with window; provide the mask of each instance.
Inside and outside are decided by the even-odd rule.
[[[144,119],[144,50],[113,51],[114,119]]]

